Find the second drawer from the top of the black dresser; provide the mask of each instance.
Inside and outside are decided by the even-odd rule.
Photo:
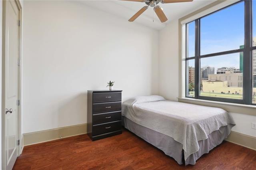
[[[122,102],[108,102],[108,103],[93,103],[92,113],[103,113],[103,112],[113,112],[121,111]]]

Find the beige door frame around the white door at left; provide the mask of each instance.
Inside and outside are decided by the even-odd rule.
[[[19,66],[18,66],[18,99],[20,100],[20,105],[17,106],[17,116],[18,116],[18,139],[20,139],[20,145],[17,147],[17,153],[18,156],[20,156],[22,149],[23,149],[23,138],[22,138],[22,133],[21,133],[21,56],[22,56],[22,6],[20,3],[20,0],[14,0],[18,10],[19,10],[19,20],[20,20],[20,26],[19,26],[19,41],[18,41],[18,59],[19,59]],[[2,1],[3,2],[3,1]],[[5,6],[2,6],[2,170],[6,169],[6,157],[5,157],[5,37],[6,37],[6,22],[5,22],[5,16],[4,16],[4,11]],[[18,24],[18,23],[17,23]]]

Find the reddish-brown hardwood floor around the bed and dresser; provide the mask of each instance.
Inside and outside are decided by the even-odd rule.
[[[256,151],[224,141],[196,165],[184,166],[161,150],[124,130],[92,142],[84,134],[24,147],[14,170],[49,169],[256,169]]]

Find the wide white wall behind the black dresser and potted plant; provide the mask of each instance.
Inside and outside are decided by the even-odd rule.
[[[86,123],[87,90],[158,94],[158,32],[68,1],[24,1],[22,133]]]

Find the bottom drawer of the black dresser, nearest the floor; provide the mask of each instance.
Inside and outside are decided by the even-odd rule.
[[[121,130],[121,121],[92,126],[92,136]]]

